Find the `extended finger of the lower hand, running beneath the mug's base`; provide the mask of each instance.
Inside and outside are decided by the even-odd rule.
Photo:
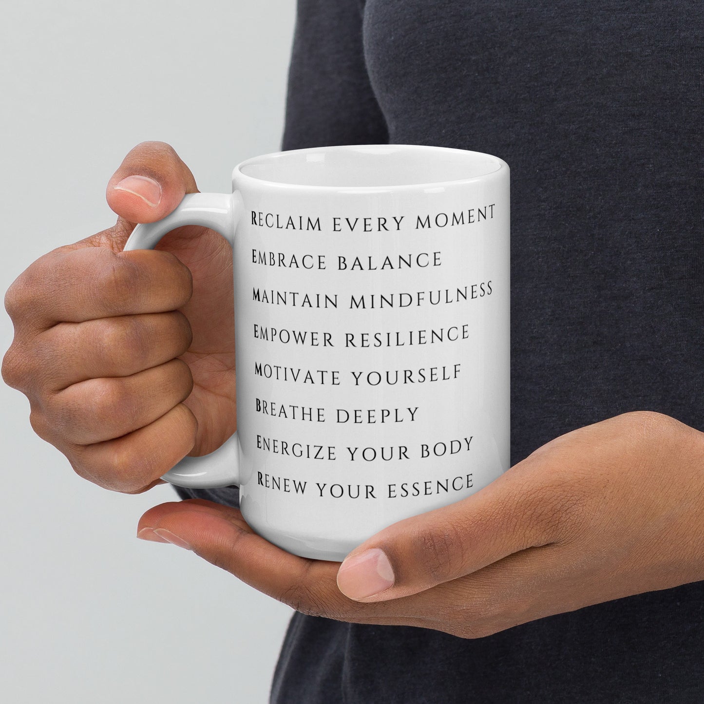
[[[156,532],[155,532],[156,531]],[[291,555],[258,536],[239,509],[210,501],[165,503],[139,520],[143,539],[172,542],[291,608],[309,615],[358,623],[410,624],[403,599],[360,604],[340,593],[337,562]]]

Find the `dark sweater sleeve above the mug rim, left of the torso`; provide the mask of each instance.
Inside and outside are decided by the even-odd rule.
[[[388,142],[367,77],[363,11],[363,0],[298,0],[282,150]],[[239,505],[237,486],[174,489],[181,498]]]

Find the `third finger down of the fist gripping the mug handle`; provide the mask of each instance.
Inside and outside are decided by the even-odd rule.
[[[180,359],[129,377],[87,379],[49,396],[46,422],[63,441],[77,445],[112,440],[149,425],[192,388],[191,370]]]

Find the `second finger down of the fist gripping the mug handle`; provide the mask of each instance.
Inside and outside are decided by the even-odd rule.
[[[32,376],[46,379],[49,392],[86,379],[129,377],[181,356],[191,339],[178,310],[59,323],[35,339]]]

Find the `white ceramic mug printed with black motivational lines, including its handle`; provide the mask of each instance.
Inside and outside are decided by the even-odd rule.
[[[306,558],[458,501],[509,467],[509,169],[404,144],[239,163],[181,225],[234,258],[237,433],[164,479],[238,484],[245,520]]]

